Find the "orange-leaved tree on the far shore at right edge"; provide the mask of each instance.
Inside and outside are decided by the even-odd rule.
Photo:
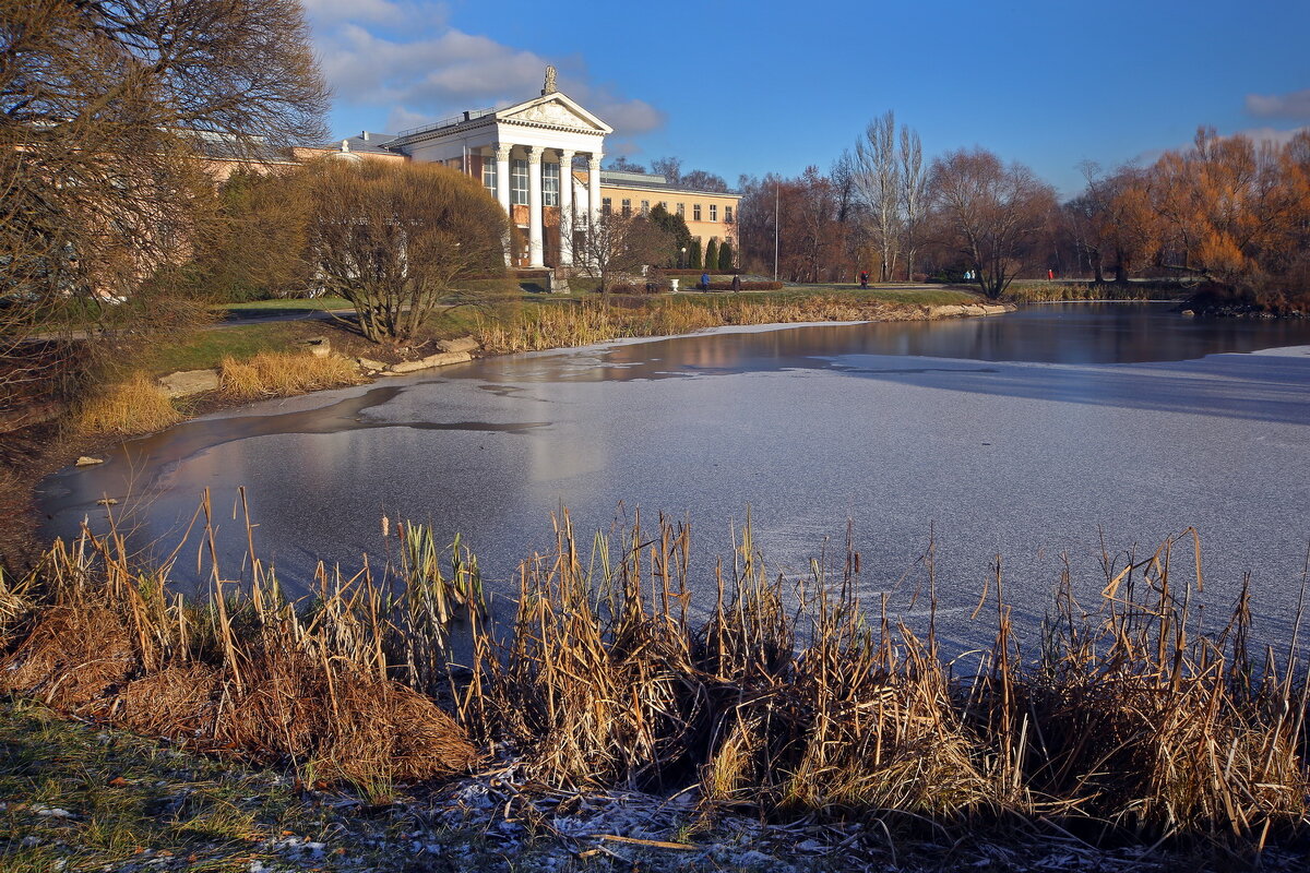
[[[1197,131],[1192,148],[1166,152],[1123,192],[1150,203],[1150,247],[1161,266],[1201,280],[1204,291],[1263,309],[1310,301],[1310,134],[1288,144]]]

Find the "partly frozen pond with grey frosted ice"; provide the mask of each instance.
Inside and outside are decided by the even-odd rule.
[[[190,421],[52,476],[45,505],[67,534],[114,496],[136,542],[168,546],[208,487],[234,576],[246,486],[259,551],[292,582],[318,559],[376,555],[383,514],[461,533],[493,585],[546,547],[561,505],[584,530],[620,507],[689,518],[703,567],[747,507],[791,571],[825,537],[840,552],[850,518],[869,592],[935,531],[960,645],[994,555],[1031,626],[1062,555],[1091,590],[1102,539],[1142,556],[1195,526],[1207,598],[1227,605],[1250,573],[1260,630],[1282,636],[1310,541],[1307,344],[1306,322],[1127,304],[496,357]]]

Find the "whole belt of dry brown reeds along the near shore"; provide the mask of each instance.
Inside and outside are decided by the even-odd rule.
[[[854,552],[783,579],[747,529],[692,579],[686,529],[582,537],[566,516],[491,620],[470,555],[384,530],[389,567],[320,568],[301,603],[253,556],[248,585],[215,568],[198,605],[115,538],[56,546],[3,592],[0,690],[375,796],[508,749],[544,791],[688,792],[705,814],[897,839],[1024,822],[1238,852],[1307,836],[1305,660],[1250,644],[1244,596],[1200,630],[1191,539],[1107,567],[1086,609],[1064,582],[1040,637],[1011,627],[998,576],[979,610],[992,644],[948,664],[931,623],[861,602]],[[930,607],[948,582],[929,571]],[[689,615],[693,586],[718,592],[709,615]]]

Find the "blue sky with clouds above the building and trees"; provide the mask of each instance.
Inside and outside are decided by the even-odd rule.
[[[559,89],[609,154],[735,182],[827,170],[887,110],[925,157],[982,145],[1066,195],[1200,124],[1310,126],[1310,0],[305,0],[337,135],[396,132]]]

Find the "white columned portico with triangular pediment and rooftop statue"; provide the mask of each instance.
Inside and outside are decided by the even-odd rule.
[[[574,232],[600,209],[608,134],[612,127],[555,89],[548,68],[540,97],[403,131],[383,148],[481,177],[528,241],[511,266],[571,266]]]

